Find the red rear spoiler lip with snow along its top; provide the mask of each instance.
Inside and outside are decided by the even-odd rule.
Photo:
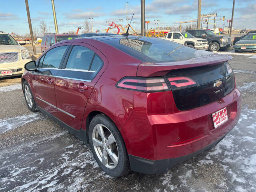
[[[213,54],[211,56],[194,58],[184,61],[175,61],[175,62],[164,62],[164,63],[149,63],[142,62],[138,66],[137,74],[138,77],[154,77],[154,76],[164,76],[171,70],[191,68],[205,65],[216,65],[228,60],[231,60],[233,57],[226,54]]]

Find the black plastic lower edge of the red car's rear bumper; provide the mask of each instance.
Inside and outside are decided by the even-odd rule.
[[[149,159],[145,159],[145,158],[141,158],[141,157],[137,157],[137,156],[128,154],[129,161],[130,161],[130,168],[132,171],[140,172],[140,173],[144,173],[144,174],[165,173],[168,170],[170,170],[174,165],[176,165],[182,161],[185,161],[193,156],[196,156],[205,150],[210,150],[211,148],[216,146],[216,144],[218,144],[225,136],[226,136],[226,134],[222,138],[219,138],[218,140],[214,141],[210,145],[208,145],[194,153],[188,154],[186,156],[177,157],[177,158],[149,160]]]

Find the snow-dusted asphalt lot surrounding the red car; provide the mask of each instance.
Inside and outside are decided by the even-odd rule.
[[[212,150],[157,175],[106,175],[89,146],[28,110],[20,78],[0,80],[0,191],[256,191],[256,56],[232,56],[243,104],[237,126]]]

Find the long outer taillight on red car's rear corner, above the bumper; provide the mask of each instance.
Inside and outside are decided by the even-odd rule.
[[[125,77],[116,84],[116,87],[142,92],[170,90],[164,78]]]

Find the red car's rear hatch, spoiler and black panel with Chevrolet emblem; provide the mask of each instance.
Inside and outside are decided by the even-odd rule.
[[[164,76],[178,110],[189,110],[219,100],[235,87],[228,55],[170,63],[142,63],[137,76]]]

